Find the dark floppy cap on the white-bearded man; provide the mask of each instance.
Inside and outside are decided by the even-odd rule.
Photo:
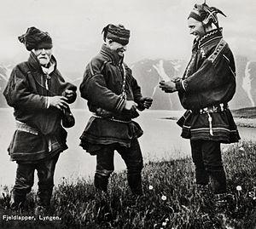
[[[24,43],[26,49],[31,51],[32,49],[52,48],[52,39],[49,37],[47,31],[40,31],[36,27],[30,27],[26,30],[26,33],[18,37],[20,43]]]

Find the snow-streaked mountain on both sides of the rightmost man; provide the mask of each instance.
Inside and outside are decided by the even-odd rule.
[[[183,75],[187,63],[183,60],[141,60],[131,65],[133,75],[142,86],[144,95],[154,94],[152,109],[180,110],[177,93],[165,94],[159,87],[159,71],[156,68],[163,67],[166,75],[170,77]],[[155,89],[155,92],[154,92]],[[247,60],[246,57],[236,57],[236,94],[230,101],[231,109],[253,107],[256,104],[256,62]]]

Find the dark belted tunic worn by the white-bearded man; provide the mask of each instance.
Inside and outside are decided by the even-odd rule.
[[[14,107],[17,129],[9,145],[11,160],[35,162],[54,157],[67,149],[67,131],[61,126],[62,113],[48,107],[48,96],[62,95],[66,89],[74,91],[76,86],[66,83],[55,68],[49,75],[42,71],[35,54],[28,61],[15,66],[4,90],[9,106]]]

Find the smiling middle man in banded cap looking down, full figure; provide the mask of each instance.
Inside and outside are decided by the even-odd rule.
[[[143,130],[132,119],[138,116],[137,110],[148,109],[152,99],[142,96],[137,80],[124,62],[130,31],[109,24],[102,32],[105,43],[86,66],[80,85],[81,96],[88,100],[93,113],[80,137],[80,146],[96,155],[97,189],[108,192],[113,155],[117,151],[125,161],[131,192],[141,195],[143,156],[137,138],[143,135]]]

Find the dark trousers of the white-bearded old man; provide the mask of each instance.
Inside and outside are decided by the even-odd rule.
[[[32,190],[34,172],[37,170],[37,203],[40,206],[49,207],[54,186],[55,164],[57,163],[58,158],[59,154],[48,160],[43,160],[37,163],[17,163],[15,186],[12,191],[12,202],[14,205],[18,206],[26,200],[26,194]]]

